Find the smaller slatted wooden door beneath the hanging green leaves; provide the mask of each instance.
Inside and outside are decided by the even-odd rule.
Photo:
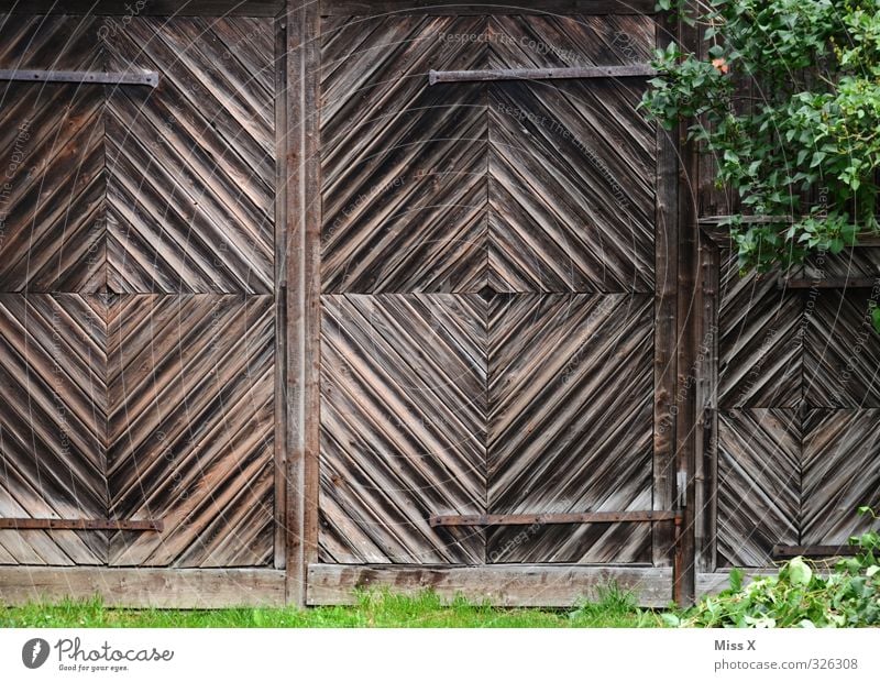
[[[880,504],[880,250],[824,254],[781,278],[740,277],[704,237],[701,591],[734,566],[827,557]]]

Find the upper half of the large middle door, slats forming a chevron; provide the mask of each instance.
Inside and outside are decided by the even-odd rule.
[[[557,44],[572,64],[631,63],[651,22],[508,19],[326,20],[324,293],[652,290],[644,80],[427,82],[544,65]]]

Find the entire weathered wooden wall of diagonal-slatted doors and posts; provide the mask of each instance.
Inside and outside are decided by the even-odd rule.
[[[0,600],[660,606],[858,528],[878,249],[740,278],[637,108],[694,31],[520,4],[0,0]]]

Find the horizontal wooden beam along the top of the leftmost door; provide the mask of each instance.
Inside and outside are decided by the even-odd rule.
[[[284,0],[0,0],[12,14],[89,14],[117,16],[275,16]]]

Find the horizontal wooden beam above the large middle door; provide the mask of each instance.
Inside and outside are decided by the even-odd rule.
[[[653,14],[653,0],[541,0],[519,2],[515,8],[461,0],[322,0],[323,15],[438,14]]]

